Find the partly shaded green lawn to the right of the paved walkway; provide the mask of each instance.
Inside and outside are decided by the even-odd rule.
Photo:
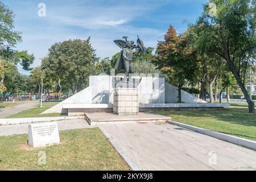
[[[157,111],[172,121],[220,133],[256,140],[256,114],[249,114],[247,105],[231,104],[224,110]]]

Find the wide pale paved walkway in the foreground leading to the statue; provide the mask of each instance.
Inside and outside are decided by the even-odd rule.
[[[102,125],[133,169],[256,170],[256,151],[164,124]]]

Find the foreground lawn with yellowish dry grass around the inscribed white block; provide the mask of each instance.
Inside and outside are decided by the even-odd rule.
[[[130,170],[100,129],[60,131],[60,144],[27,145],[28,135],[0,137],[0,170]],[[38,164],[39,151],[46,164]]]

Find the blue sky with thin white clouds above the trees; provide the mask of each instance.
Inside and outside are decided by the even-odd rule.
[[[202,5],[208,0],[3,0],[16,14],[15,30],[22,32],[23,42],[16,47],[34,53],[32,67],[40,65],[48,48],[68,39],[91,36],[98,57],[112,57],[119,51],[113,40],[137,35],[146,47],[156,47],[172,24],[178,33],[188,23],[195,23]],[[39,3],[46,5],[46,16],[39,17]],[[19,71],[28,74],[19,68]]]

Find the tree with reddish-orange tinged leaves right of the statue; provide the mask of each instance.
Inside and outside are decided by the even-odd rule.
[[[158,69],[170,77],[173,85],[178,87],[178,102],[181,102],[181,87],[187,80],[195,78],[199,60],[196,52],[189,44],[186,34],[177,35],[170,26],[164,35],[164,41],[159,41],[156,56],[152,59]]]

